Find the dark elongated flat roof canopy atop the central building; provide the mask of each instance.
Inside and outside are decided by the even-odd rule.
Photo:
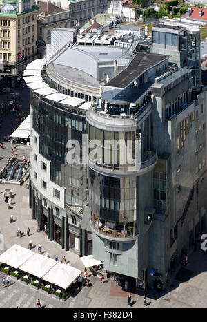
[[[119,75],[111,79],[106,86],[124,89],[132,84],[139,75],[152,66],[161,63],[161,61],[168,59],[168,57],[167,55],[153,53],[137,53],[130,64]]]

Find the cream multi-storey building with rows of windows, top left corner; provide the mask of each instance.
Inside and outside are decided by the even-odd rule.
[[[23,70],[37,58],[37,6],[33,1],[3,1],[0,12],[0,75],[12,87]]]

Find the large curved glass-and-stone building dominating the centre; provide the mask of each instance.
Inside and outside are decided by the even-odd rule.
[[[95,55],[97,67],[91,60],[87,70],[79,64],[80,94],[72,79],[66,91],[65,75],[54,70],[56,61],[61,73],[64,55],[44,72],[54,88],[25,77],[32,218],[41,229],[46,223],[48,238],[61,247],[93,254],[103,269],[142,290],[166,287],[206,227],[206,89],[198,39],[199,30],[155,26],[151,52],[138,52],[119,71],[124,57],[111,56],[115,70],[104,82],[90,46],[88,59]],[[81,51],[72,50],[65,50],[67,57],[72,61],[75,53],[79,61]],[[97,89],[102,83],[99,93],[90,86],[89,95],[89,75]],[[75,139],[79,153],[71,162]]]

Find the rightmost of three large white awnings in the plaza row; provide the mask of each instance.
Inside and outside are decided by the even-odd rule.
[[[57,265],[52,267],[50,271],[43,276],[43,280],[66,290],[81,273],[82,272],[75,267],[58,262]]]

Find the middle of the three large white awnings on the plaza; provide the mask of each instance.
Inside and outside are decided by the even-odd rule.
[[[19,269],[28,274],[43,278],[43,276],[55,265],[57,265],[55,259],[48,258],[41,254],[34,254],[34,256],[23,263]]]

